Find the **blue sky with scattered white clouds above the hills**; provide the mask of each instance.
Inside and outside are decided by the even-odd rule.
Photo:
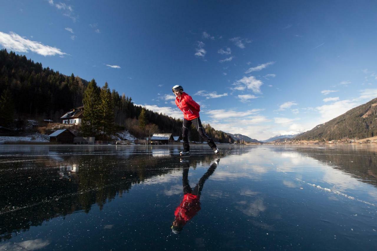
[[[0,48],[216,130],[297,134],[377,97],[375,1],[2,0]]]

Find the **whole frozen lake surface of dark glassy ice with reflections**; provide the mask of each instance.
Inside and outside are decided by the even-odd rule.
[[[0,250],[377,250],[375,145],[0,145]]]

